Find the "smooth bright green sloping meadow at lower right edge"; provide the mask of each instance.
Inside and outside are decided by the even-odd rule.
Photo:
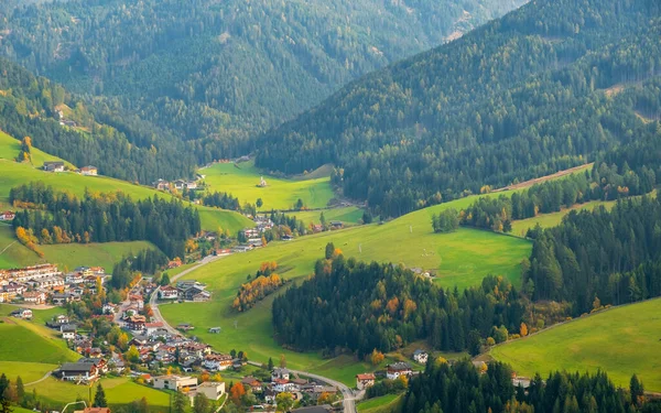
[[[633,373],[646,390],[661,391],[661,298],[627,305],[560,325],[491,349],[521,376],[553,370],[602,369],[618,385]]]

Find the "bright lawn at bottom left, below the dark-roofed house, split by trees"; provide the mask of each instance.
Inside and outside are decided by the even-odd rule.
[[[134,400],[147,398],[149,405],[153,411],[165,411],[170,406],[170,394],[156,389],[149,388],[134,383],[129,378],[108,378],[100,380],[108,404],[121,405],[128,404]],[[66,381],[59,381],[55,378],[50,378],[39,384],[35,384],[36,392],[40,398],[45,398],[54,404],[62,407],[68,402],[75,401],[77,398],[88,400],[89,388],[87,385],[77,385]],[[32,391],[32,387],[26,387],[26,391]],[[94,398],[96,384],[91,388],[91,396]]]

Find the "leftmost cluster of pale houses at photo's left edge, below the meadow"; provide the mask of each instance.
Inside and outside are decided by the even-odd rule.
[[[67,274],[54,264],[0,270],[0,303],[63,305],[80,301],[83,294],[96,294],[97,280],[102,282],[106,276],[100,267],[79,267]]]

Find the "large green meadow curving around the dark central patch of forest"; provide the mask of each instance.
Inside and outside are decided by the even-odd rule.
[[[231,311],[231,301],[248,274],[254,274],[263,261],[277,261],[280,274],[296,279],[310,274],[314,262],[322,258],[327,242],[334,242],[345,256],[364,261],[404,263],[436,272],[443,286],[466,287],[479,284],[486,274],[502,274],[519,284],[520,262],[530,254],[527,240],[489,231],[459,228],[453,233],[434,233],[431,215],[444,208],[460,209],[475,197],[419,210],[383,225],[354,227],[301,237],[288,242],[272,242],[267,248],[232,254],[185,275],[207,283],[213,292],[208,303],[161,305],[163,316],[173,325],[191,323],[205,343],[219,351],[247,351],[254,361],[278,360],[284,354],[288,366],[310,371],[323,371],[332,378],[354,383],[354,376],[366,366],[347,362],[345,358],[324,360],[317,352],[293,352],[273,340],[271,304],[273,297],[258,303],[246,313]],[[361,252],[360,252],[360,250]],[[237,327],[235,328],[235,320]],[[223,333],[208,334],[208,327],[220,326]]]

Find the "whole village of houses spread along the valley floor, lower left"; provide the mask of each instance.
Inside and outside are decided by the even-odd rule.
[[[181,261],[169,263],[171,268],[178,265]],[[294,401],[304,401],[304,405],[316,409],[301,410],[308,412],[329,412],[342,401],[340,389],[336,385],[288,370],[285,363],[274,367],[271,360],[268,365],[250,361],[242,350],[217,352],[195,337],[196,326],[181,324],[173,328],[153,317],[150,303],[154,301],[209,300],[212,292],[195,280],[160,285],[151,278],[140,278],[124,301],[102,303],[101,314],[84,319],[71,311],[71,304],[98,297],[106,291],[110,278],[111,274],[100,267],[78,267],[67,273],[47,263],[0,270],[0,302],[20,306],[11,313],[13,317],[30,320],[37,308],[63,308],[64,314],[53,316],[45,325],[55,330],[80,358],[54,370],[52,374],[58,380],[90,385],[106,376],[129,376],[154,389],[183,392],[193,403],[196,394],[204,394],[212,401],[221,400],[229,391],[227,380],[223,379],[227,373],[232,379],[231,385],[240,385],[250,394],[254,406],[262,411],[269,411],[280,393],[291,394]],[[118,327],[126,335],[126,351],[119,348],[121,345],[110,345],[110,334],[95,336],[89,328],[90,323],[95,326],[108,323]],[[197,328],[205,328],[209,334],[221,333],[220,327]],[[427,354],[422,350],[413,355],[418,366],[426,363],[426,360]],[[410,363],[394,362],[382,371],[357,374],[355,392],[361,395],[379,380],[397,381],[414,373]],[[91,410],[85,412],[95,413]]]

